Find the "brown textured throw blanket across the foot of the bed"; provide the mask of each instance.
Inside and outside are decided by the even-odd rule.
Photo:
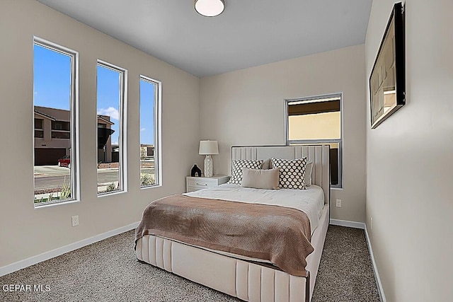
[[[190,245],[269,260],[282,271],[306,277],[313,252],[308,216],[297,209],[176,194],[151,202],[135,230]]]

